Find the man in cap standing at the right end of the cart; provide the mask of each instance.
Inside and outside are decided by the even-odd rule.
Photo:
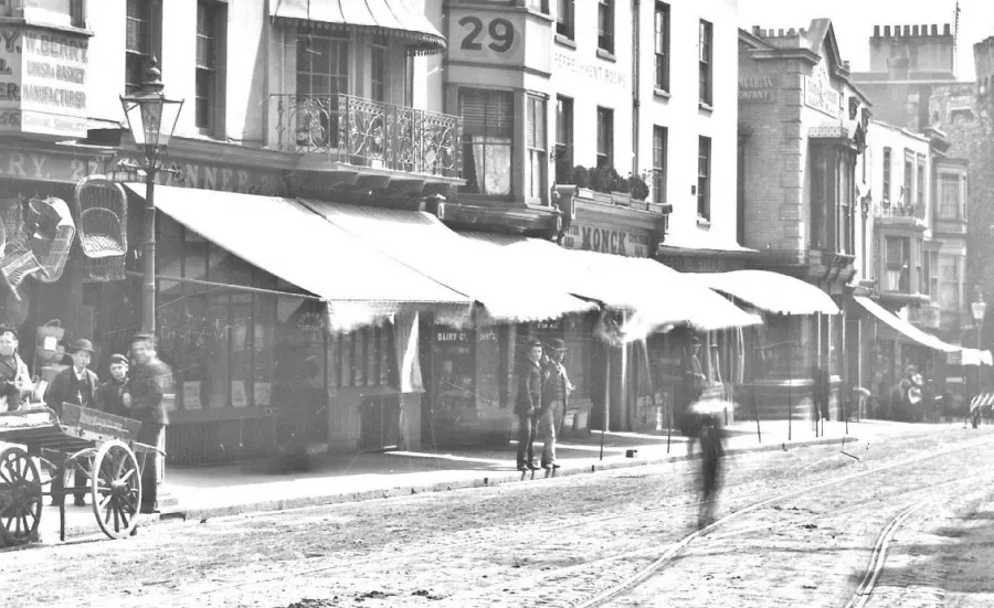
[[[139,333],[131,339],[131,356],[136,365],[121,403],[130,417],[141,423],[138,442],[159,447],[169,424],[165,398],[172,393],[172,370],[159,360],[156,337],[150,333]],[[158,465],[159,455],[151,455],[141,471],[142,513],[158,511]]]

